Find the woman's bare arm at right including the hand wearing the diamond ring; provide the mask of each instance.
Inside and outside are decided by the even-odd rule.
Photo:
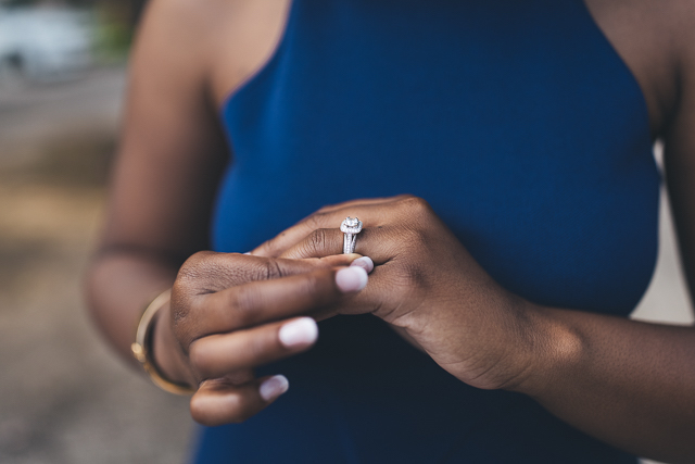
[[[661,3],[649,5],[664,10]],[[692,2],[678,5],[668,9],[677,14],[644,16],[668,20],[649,38],[659,38],[659,47],[669,51],[645,53],[647,45],[632,38],[629,43],[643,47],[628,53],[628,62],[664,59],[645,67],[658,71],[656,84],[648,84],[649,79],[641,84],[647,89],[650,113],[664,122],[655,127],[664,126],[668,192],[683,267],[695,296],[695,10]],[[626,50],[619,34],[611,39]],[[677,90],[671,92],[671,87]],[[387,201],[391,201],[388,206]],[[374,311],[405,329],[463,381],[529,394],[567,423],[618,448],[667,462],[695,462],[695,328],[543,308],[515,298],[490,281],[443,225],[438,233],[432,230],[429,225],[439,220],[426,204],[406,200],[410,205],[393,213],[392,201],[381,201],[386,206],[381,211],[379,203],[364,201],[325,209],[254,254],[337,253],[341,234],[323,228],[334,228],[345,216],[357,215],[372,229],[361,234],[356,251],[372,258],[377,266],[358,302],[337,311]],[[419,247],[403,249],[405,237],[374,230],[375,225],[386,228],[402,217],[422,217],[421,227],[410,237]],[[309,240],[304,239],[307,234]],[[458,248],[456,259],[431,243],[445,243],[445,250]],[[447,274],[462,278],[452,281]]]

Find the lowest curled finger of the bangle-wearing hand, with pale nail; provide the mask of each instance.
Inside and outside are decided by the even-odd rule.
[[[241,423],[261,412],[288,388],[289,383],[281,375],[242,385],[233,385],[228,380],[206,380],[191,398],[191,416],[208,427]]]

